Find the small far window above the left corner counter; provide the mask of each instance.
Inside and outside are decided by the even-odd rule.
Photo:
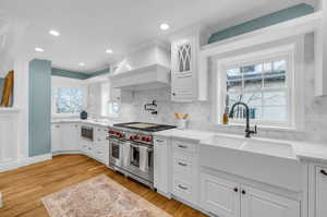
[[[83,91],[73,88],[55,89],[56,113],[76,114],[83,110]]]

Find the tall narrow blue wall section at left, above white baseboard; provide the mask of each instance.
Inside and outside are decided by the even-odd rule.
[[[51,62],[29,62],[28,156],[51,152]]]

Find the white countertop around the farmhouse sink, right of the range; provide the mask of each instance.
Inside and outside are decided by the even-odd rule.
[[[157,136],[165,136],[165,137],[174,137],[174,138],[187,138],[193,140],[203,145],[214,145],[213,137],[214,135],[227,135],[232,136],[234,138],[244,138],[242,135],[235,134],[223,134],[210,131],[198,131],[198,130],[167,130],[155,133]],[[311,142],[299,142],[299,141],[288,141],[288,140],[270,140],[270,138],[262,138],[255,137],[256,141],[268,141],[275,143],[287,143],[291,144],[296,157],[301,160],[313,160],[313,161],[320,161],[327,164],[327,144],[317,144]]]

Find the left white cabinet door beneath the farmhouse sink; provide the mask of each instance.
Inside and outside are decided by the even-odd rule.
[[[201,206],[223,216],[240,216],[240,184],[208,173],[201,174]]]

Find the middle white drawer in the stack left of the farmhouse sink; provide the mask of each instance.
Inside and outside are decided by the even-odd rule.
[[[192,179],[193,174],[193,157],[173,154],[172,169],[174,173],[184,174]]]

